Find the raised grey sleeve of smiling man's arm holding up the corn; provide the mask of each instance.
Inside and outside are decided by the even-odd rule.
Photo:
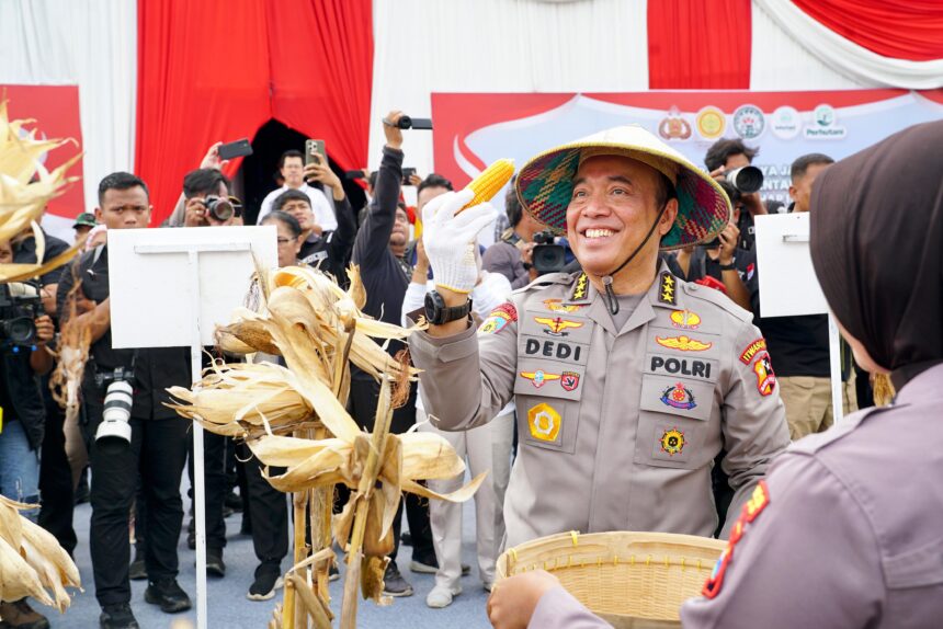
[[[511,400],[518,359],[516,308],[507,302],[481,324],[448,338],[417,332],[409,338],[422,369],[422,403],[432,423],[464,431],[489,422]]]

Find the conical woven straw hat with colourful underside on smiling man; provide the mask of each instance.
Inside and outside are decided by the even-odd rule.
[[[611,155],[646,163],[674,184],[678,217],[661,239],[662,250],[709,242],[727,226],[730,199],[717,182],[638,125],[606,129],[531,159],[514,184],[521,205],[538,222],[566,233],[577,169],[591,157]]]

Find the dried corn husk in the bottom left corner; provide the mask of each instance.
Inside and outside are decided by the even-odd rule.
[[[55,537],[20,515],[24,508],[35,505],[0,495],[0,601],[32,596],[64,613],[70,603],[66,587],[81,590],[79,570]]]

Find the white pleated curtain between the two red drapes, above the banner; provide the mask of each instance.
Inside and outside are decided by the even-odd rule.
[[[648,89],[646,0],[374,0],[368,162],[391,108],[428,117],[432,92]],[[433,121],[434,124],[434,121]],[[406,131],[406,165],[432,170],[429,131]]]

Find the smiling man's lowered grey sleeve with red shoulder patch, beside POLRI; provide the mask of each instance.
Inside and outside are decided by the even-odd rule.
[[[773,458],[789,445],[786,412],[776,377],[760,331],[745,321],[734,344],[730,381],[724,397],[722,462],[735,491],[729,513],[735,514],[766,473]],[[722,537],[730,533],[727,518]]]

